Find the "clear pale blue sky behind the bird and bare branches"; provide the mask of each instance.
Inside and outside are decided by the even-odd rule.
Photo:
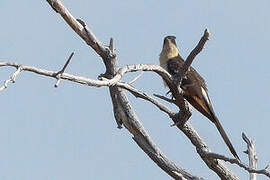
[[[183,57],[205,28],[211,37],[193,66],[206,79],[216,114],[240,158],[241,139],[255,139],[258,166],[270,162],[269,43],[270,2],[261,1],[63,1],[105,44],[115,40],[120,66],[158,64],[163,37],[175,35]],[[0,1],[0,61],[58,71],[72,51],[66,72],[95,79],[104,65],[43,1]],[[0,68],[0,83],[14,72]],[[128,75],[126,80],[136,74]],[[169,179],[119,130],[108,89],[94,88],[23,72],[0,92],[0,179]],[[134,84],[149,94],[167,89],[153,73]],[[167,115],[132,96],[136,112],[169,159],[196,176],[217,179]],[[174,106],[169,105],[176,110]],[[190,120],[209,147],[231,156],[216,128],[194,110]],[[248,174],[228,164],[240,179]],[[266,179],[260,176],[259,179]]]

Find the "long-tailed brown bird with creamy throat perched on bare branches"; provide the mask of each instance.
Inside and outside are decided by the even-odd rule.
[[[175,36],[166,36],[164,38],[163,47],[159,56],[160,66],[168,71],[172,76],[176,75],[184,64],[184,59],[180,56]],[[164,85],[166,85],[166,82]],[[235,158],[239,160],[239,157],[229,140],[225,130],[223,129],[220,121],[218,120],[212,103],[210,101],[208,90],[206,87],[205,80],[200,74],[193,68],[190,67],[184,75],[180,84],[183,90],[183,97],[200,113],[207,117],[217,127],[221,137],[228,146],[230,152]]]

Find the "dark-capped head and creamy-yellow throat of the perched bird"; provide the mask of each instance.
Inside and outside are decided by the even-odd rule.
[[[164,38],[163,47],[162,47],[160,56],[163,56],[166,59],[170,59],[170,58],[178,56],[178,49],[177,49],[175,39],[176,39],[175,36],[166,36]]]

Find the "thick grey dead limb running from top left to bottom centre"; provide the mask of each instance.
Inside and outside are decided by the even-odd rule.
[[[50,6],[59,13],[69,26],[89,45],[97,54],[102,57],[106,67],[103,77],[112,79],[118,71],[117,57],[113,52],[113,41],[110,40],[110,46],[104,46],[87,27],[82,20],[76,20],[69,11],[64,7],[60,0],[47,0]],[[119,74],[119,73],[118,73]],[[110,81],[110,80],[109,80]],[[111,85],[111,84],[110,84]],[[113,102],[114,116],[117,124],[121,124],[133,135],[134,141],[144,150],[144,152],[166,173],[175,179],[198,179],[177,167],[173,162],[168,160],[155,143],[151,140],[148,133],[141,125],[135,111],[129,103],[126,94],[117,86],[110,86],[110,95]]]

